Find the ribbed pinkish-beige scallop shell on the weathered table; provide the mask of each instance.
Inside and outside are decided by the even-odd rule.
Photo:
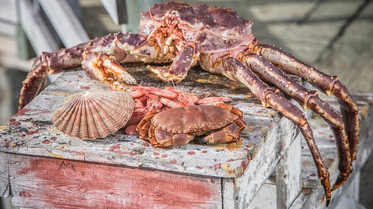
[[[66,97],[51,122],[70,137],[96,139],[123,127],[132,111],[133,99],[129,94],[98,87]]]

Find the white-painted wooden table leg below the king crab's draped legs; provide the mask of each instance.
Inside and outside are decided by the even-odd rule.
[[[276,166],[277,209],[287,209],[302,188],[301,134],[295,138]]]

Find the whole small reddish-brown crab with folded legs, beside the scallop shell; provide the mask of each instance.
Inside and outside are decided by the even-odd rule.
[[[178,117],[174,117],[177,115]],[[138,136],[155,148],[181,146],[194,140],[205,144],[232,143],[245,128],[242,112],[227,105],[191,105],[153,110],[137,125]]]

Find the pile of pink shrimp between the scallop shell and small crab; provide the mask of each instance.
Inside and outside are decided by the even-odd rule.
[[[133,91],[128,93],[134,100],[134,110],[131,118],[124,126],[125,134],[137,135],[136,126],[143,116],[151,110],[168,110],[188,105],[215,105],[230,101],[227,97],[199,98],[192,93],[177,90],[174,87],[153,88],[130,86]]]

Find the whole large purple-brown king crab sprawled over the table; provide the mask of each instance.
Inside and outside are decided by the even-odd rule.
[[[240,81],[264,107],[275,109],[299,128],[316,164],[328,205],[331,190],[340,187],[352,172],[358,144],[358,108],[338,77],[326,75],[280,48],[259,43],[251,33],[251,25],[250,20],[226,8],[173,1],[155,4],[141,13],[139,34],[109,34],[72,48],[43,52],[23,81],[19,108],[45,87],[46,73],[81,65],[91,78],[121,89],[136,81],[118,63],[172,62],[169,66],[148,66],[163,81],[181,81],[190,67],[199,64],[206,71]],[[336,96],[341,114],[323,102],[316,91],[294,82],[287,73],[301,77],[326,95]],[[263,80],[329,123],[339,157],[339,175],[331,190],[329,173],[303,112]]]

